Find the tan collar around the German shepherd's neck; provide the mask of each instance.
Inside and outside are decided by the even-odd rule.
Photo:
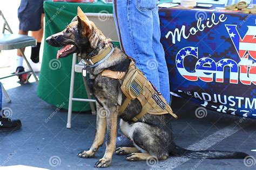
[[[103,44],[103,47],[105,46],[105,43]],[[99,49],[103,48],[102,45],[100,45]],[[104,62],[109,56],[113,53],[114,47],[112,44],[110,46],[105,46],[102,49],[102,52],[99,54],[91,56],[90,59],[84,59],[85,64],[90,66],[90,67],[96,67],[100,65],[100,63]],[[91,53],[90,53],[91,54]]]

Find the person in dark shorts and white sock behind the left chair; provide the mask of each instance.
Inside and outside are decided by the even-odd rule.
[[[44,0],[21,0],[21,5],[18,8],[18,18],[19,18],[19,34],[28,35],[29,31],[32,31],[32,37],[37,40],[37,45],[32,46],[30,59],[34,63],[39,62],[39,50],[41,46],[41,41],[44,32]],[[22,49],[25,51],[25,48]],[[16,73],[24,72],[23,67],[23,57],[22,53],[17,51],[16,59]],[[25,73],[19,75],[19,80],[21,83],[27,83],[31,73]]]

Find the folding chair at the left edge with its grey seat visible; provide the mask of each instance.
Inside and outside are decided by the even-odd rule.
[[[21,52],[22,57],[24,58],[26,64],[28,65],[28,67],[30,69],[27,72],[15,73],[15,74],[11,74],[11,75],[8,75],[8,76],[0,77],[0,80],[1,79],[6,79],[6,78],[11,77],[11,76],[16,76],[16,75],[21,75],[21,74],[24,74],[24,73],[30,73],[31,72],[32,75],[35,77],[36,82],[38,82],[36,73],[33,71],[32,67],[30,66],[29,61],[26,59],[25,54],[21,50],[24,47],[36,45],[36,39],[33,38],[33,37],[25,36],[25,35],[13,34],[12,31],[11,31],[11,28],[10,28],[8,22],[6,21],[6,19],[5,19],[1,10],[0,10],[0,16],[2,17],[2,19],[4,21],[3,30],[2,30],[2,33],[0,33],[0,51],[9,50],[9,49],[18,49]],[[5,34],[4,33],[5,30],[9,31],[10,34]],[[3,89],[3,93],[6,96],[7,101],[11,102],[11,99],[10,99],[8,93],[6,92],[6,90],[4,89],[3,85],[1,85],[1,88]]]

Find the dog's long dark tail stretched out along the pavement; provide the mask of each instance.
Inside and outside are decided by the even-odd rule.
[[[203,159],[244,159],[248,154],[243,152],[229,151],[191,151],[174,145],[171,154],[186,158],[203,158]]]

